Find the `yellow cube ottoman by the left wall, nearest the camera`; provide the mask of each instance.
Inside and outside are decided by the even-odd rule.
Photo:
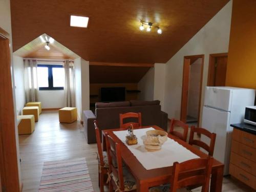
[[[18,134],[31,134],[35,130],[34,115],[18,115],[17,119],[20,120],[18,124]]]

